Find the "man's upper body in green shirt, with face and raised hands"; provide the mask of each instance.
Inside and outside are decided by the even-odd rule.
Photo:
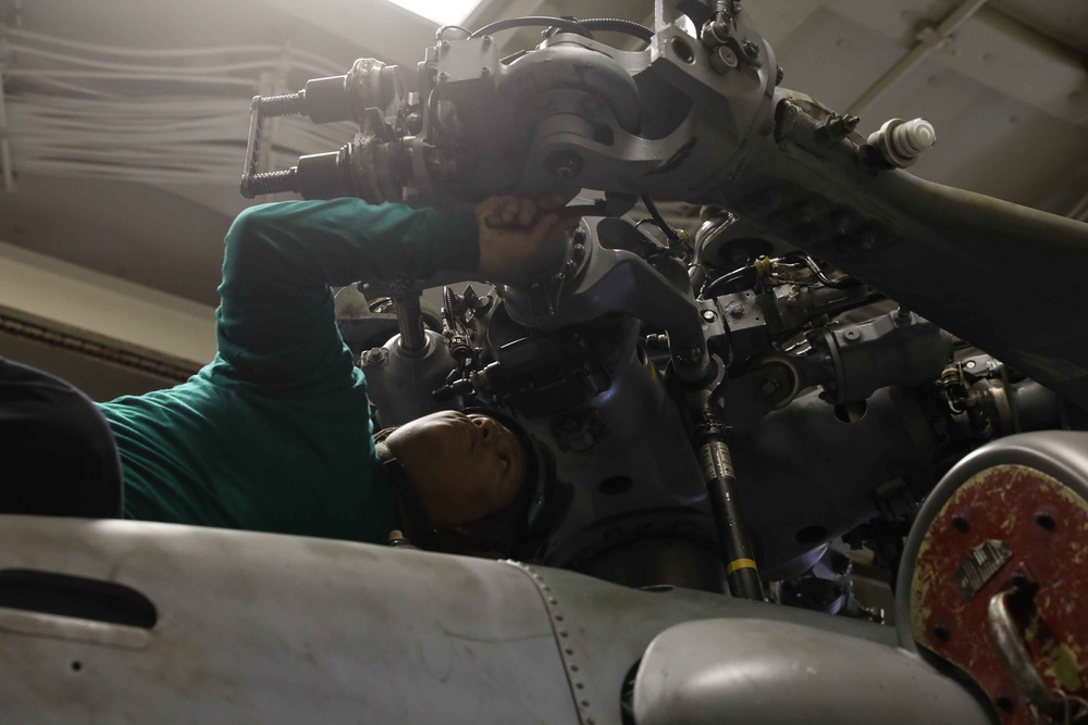
[[[337,199],[243,212],[225,240],[215,360],[174,388],[101,405],[124,516],[384,542],[395,491],[330,286],[440,271],[508,279],[569,228],[559,203],[502,197],[443,212]],[[385,445],[436,529],[471,533],[523,500],[535,475],[523,440],[485,415],[430,415]]]

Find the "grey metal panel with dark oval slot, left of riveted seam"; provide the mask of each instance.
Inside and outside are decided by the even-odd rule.
[[[577,721],[540,596],[515,567],[210,528],[2,522],[0,571],[124,585],[158,613],[150,628],[58,616],[55,591],[0,607],[5,723]]]

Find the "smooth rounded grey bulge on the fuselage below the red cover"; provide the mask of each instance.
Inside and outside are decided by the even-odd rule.
[[[688,622],[658,635],[639,666],[633,707],[639,725],[993,722],[916,654],[755,618]]]

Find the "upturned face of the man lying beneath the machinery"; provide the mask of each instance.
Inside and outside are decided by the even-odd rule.
[[[394,430],[385,445],[438,528],[470,529],[508,507],[526,480],[524,443],[486,415],[432,413]]]

